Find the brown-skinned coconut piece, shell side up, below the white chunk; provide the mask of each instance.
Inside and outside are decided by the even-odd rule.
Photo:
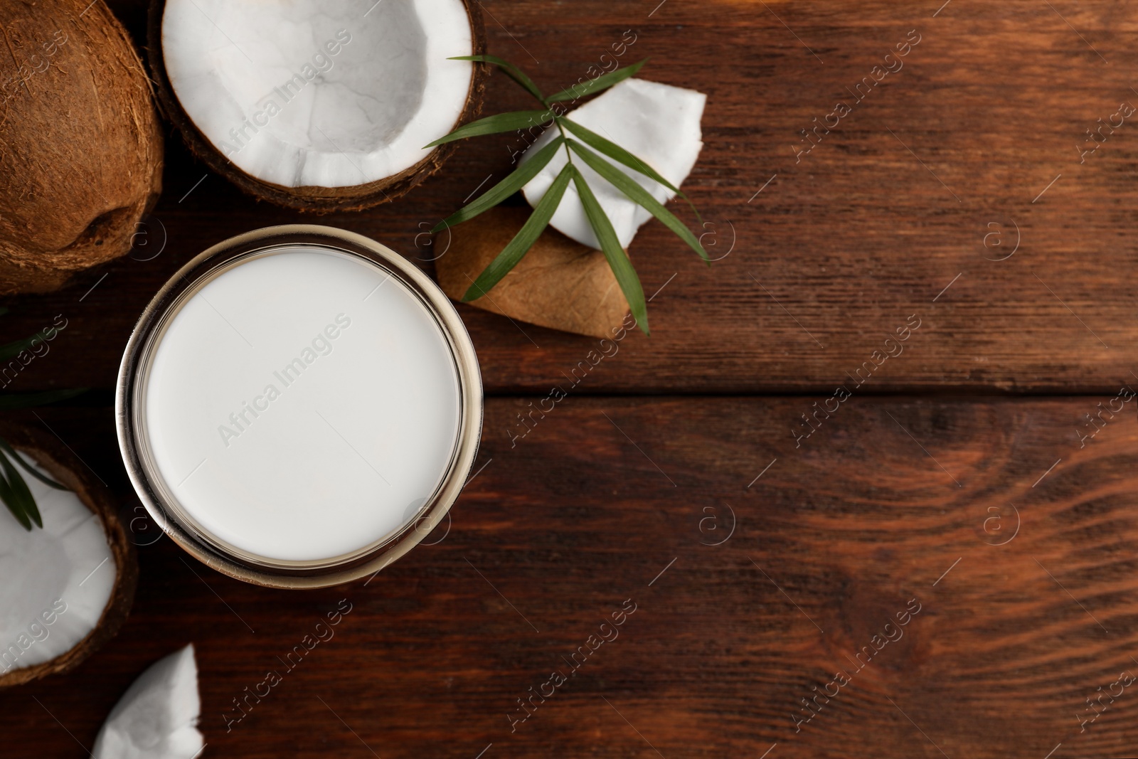
[[[529,217],[528,208],[497,206],[453,226],[450,248],[435,262],[438,283],[455,300]],[[445,245],[446,232],[437,245]],[[593,337],[610,337],[628,302],[600,250],[546,229],[494,289],[470,305],[511,319]]]

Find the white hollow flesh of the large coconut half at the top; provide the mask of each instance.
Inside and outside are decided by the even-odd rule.
[[[371,6],[369,8],[369,6]],[[462,0],[166,0],[166,75],[198,130],[283,187],[353,187],[411,168],[470,91]]]

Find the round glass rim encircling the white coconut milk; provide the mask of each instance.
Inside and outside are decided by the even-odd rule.
[[[209,534],[170,490],[146,428],[145,391],[154,355],[181,307],[208,282],[280,248],[311,246],[361,259],[395,278],[435,320],[459,385],[459,423],[450,463],[423,506],[370,544],[338,556],[284,561],[259,556]],[[390,248],[362,234],[318,224],[269,226],[229,238],[183,265],[155,295],[131,332],[115,389],[115,427],[123,463],[151,519],[184,551],[237,579],[280,588],[339,585],[374,574],[418,545],[448,513],[475,463],[483,424],[481,374],[473,344],[442,289]]]

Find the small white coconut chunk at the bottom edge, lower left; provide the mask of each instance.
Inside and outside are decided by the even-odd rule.
[[[192,759],[204,743],[193,644],[131,683],[94,741],[94,759]]]

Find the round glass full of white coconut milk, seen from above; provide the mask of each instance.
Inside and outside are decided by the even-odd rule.
[[[131,336],[116,423],[150,515],[206,564],[321,587],[395,561],[457,498],[481,431],[446,296],[365,237],[274,226],[200,254]]]

